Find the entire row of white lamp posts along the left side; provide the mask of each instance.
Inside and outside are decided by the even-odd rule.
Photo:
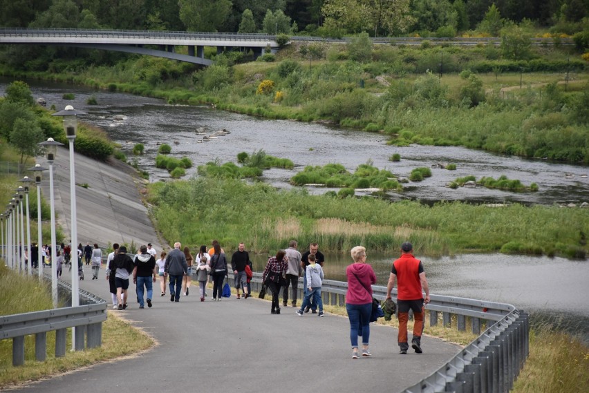
[[[66,131],[66,137],[69,142],[70,151],[70,197],[71,197],[71,244],[72,253],[77,250],[77,212],[76,212],[76,198],[75,198],[75,166],[74,166],[74,141],[77,132],[77,116],[85,115],[85,112],[76,111],[71,105],[66,106],[64,111],[53,113],[53,116],[61,116],[64,119],[64,130]],[[56,142],[53,138],[49,138],[45,142],[39,143],[40,146],[44,146],[47,162],[49,164],[49,199],[50,199],[50,213],[51,213],[51,298],[53,300],[53,308],[57,308],[57,260],[56,248],[57,241],[55,239],[55,204],[53,196],[53,162],[57,153],[57,146],[63,146],[63,144]],[[35,173],[35,184],[37,184],[37,250],[38,255],[38,272],[39,280],[42,277],[42,263],[43,258],[41,257],[41,172],[46,171],[40,164],[36,164],[34,167],[29,168],[29,171]],[[29,205],[28,205],[28,184],[33,182],[28,176],[25,176],[20,180],[23,186],[19,186],[17,193],[13,195],[12,200],[8,204],[8,209],[0,215],[1,224],[1,235],[2,242],[4,242],[4,234],[6,232],[6,263],[13,269],[23,271],[26,268],[28,274],[32,274],[31,256],[29,256],[27,262],[25,258],[25,242],[30,249],[30,220],[29,220]],[[24,212],[23,212],[23,197],[25,197],[26,203],[26,224],[27,224],[27,238],[24,238]],[[20,218],[20,219],[19,219]],[[6,224],[6,228],[5,228]],[[6,231],[5,231],[6,229]],[[17,249],[18,245],[18,249]],[[78,266],[77,266],[77,251],[74,257],[71,258],[71,263],[75,263],[76,267],[71,269],[71,287],[72,287],[72,307],[80,305],[80,282],[78,281]],[[25,266],[26,264],[26,266]],[[72,328],[72,336],[75,337],[75,327]],[[72,340],[73,349],[76,349],[75,340]]]

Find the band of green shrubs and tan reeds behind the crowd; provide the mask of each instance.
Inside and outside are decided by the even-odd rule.
[[[496,252],[509,242],[550,255],[568,256],[568,247],[587,251],[582,233],[587,231],[588,209],[520,204],[492,208],[462,202],[427,207],[410,201],[277,191],[266,184],[220,178],[149,187],[162,235],[187,245],[212,238],[221,244],[246,241],[253,252],[260,253],[286,247],[288,240],[296,238],[300,244],[319,242],[325,251],[348,252],[359,244],[393,251],[411,239],[416,252],[430,256]],[[194,226],[194,222],[216,224]]]

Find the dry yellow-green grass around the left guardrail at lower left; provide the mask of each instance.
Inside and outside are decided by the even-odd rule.
[[[30,311],[51,309],[50,285],[39,282],[38,278],[22,276],[0,265],[0,315],[20,314]],[[69,330],[69,329],[68,329]],[[47,334],[46,361],[35,361],[35,336],[25,338],[25,364],[12,366],[12,340],[0,341],[0,386],[8,387],[27,381],[35,381],[55,374],[79,370],[120,356],[138,354],[154,345],[152,338],[129,325],[126,321],[109,312],[102,325],[102,347],[79,352],[66,352],[66,356],[55,357],[55,332]],[[68,344],[71,348],[71,330]]]

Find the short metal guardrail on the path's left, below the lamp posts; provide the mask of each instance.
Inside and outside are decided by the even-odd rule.
[[[44,278],[48,278],[45,276]],[[71,285],[59,281],[62,298],[71,296]],[[71,304],[71,297],[69,298]],[[35,359],[45,361],[47,333],[55,331],[55,357],[65,356],[67,329],[76,327],[73,337],[76,351],[102,345],[102,323],[106,320],[106,301],[80,290],[78,307],[63,307],[44,311],[0,316],[0,340],[12,338],[12,365],[24,364],[25,336],[35,334]]]

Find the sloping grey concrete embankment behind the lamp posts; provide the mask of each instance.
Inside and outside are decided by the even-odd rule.
[[[44,159],[37,160],[49,167]],[[102,249],[109,242],[147,245],[159,252],[162,242],[151,224],[147,208],[141,202],[140,187],[144,185],[131,166],[118,160],[100,162],[75,154],[75,188],[77,209],[77,242],[97,243]],[[55,212],[57,224],[71,240],[70,160],[66,148],[58,148],[53,164]],[[41,190],[49,202],[49,174],[44,172]],[[88,184],[86,188],[85,185]],[[37,236],[32,236],[35,241]],[[167,245],[165,245],[167,248]],[[135,250],[129,250],[134,252]]]

